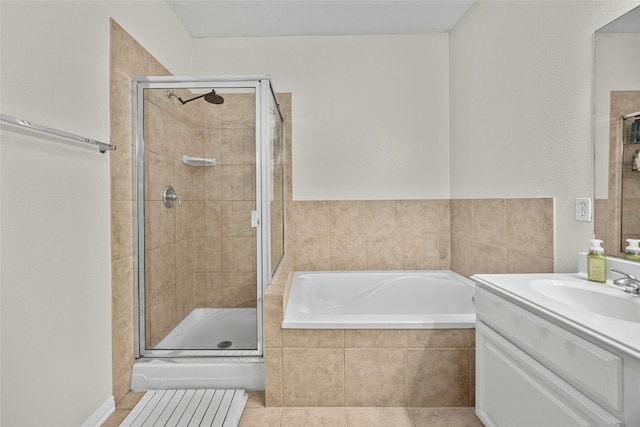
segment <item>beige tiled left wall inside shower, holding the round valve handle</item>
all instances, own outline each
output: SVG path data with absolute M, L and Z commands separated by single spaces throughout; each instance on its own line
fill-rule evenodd
M 177 108 L 161 89 L 145 91 L 144 103 L 146 339 L 154 347 L 195 307 L 193 168 L 181 158 L 202 138 L 192 130 L 201 116 L 195 107 Z M 182 206 L 164 206 L 166 185 Z

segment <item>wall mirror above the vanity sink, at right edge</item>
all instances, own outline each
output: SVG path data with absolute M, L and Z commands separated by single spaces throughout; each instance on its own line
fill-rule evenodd
M 640 239 L 640 6 L 596 31 L 594 129 L 596 238 L 621 256 Z

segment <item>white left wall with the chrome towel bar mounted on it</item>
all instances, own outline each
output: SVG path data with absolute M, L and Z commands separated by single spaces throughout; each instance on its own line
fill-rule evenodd
M 0 2 L 3 114 L 109 142 L 109 18 L 189 73 L 164 1 Z M 0 424 L 71 426 L 112 394 L 109 154 L 3 127 Z

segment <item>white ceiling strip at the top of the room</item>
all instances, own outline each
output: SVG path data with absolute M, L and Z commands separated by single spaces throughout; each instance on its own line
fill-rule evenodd
M 192 37 L 450 31 L 474 0 L 167 0 Z

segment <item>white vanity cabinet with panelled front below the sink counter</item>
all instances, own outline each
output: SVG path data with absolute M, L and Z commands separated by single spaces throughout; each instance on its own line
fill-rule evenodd
M 476 414 L 485 426 L 640 426 L 638 359 L 477 284 Z

